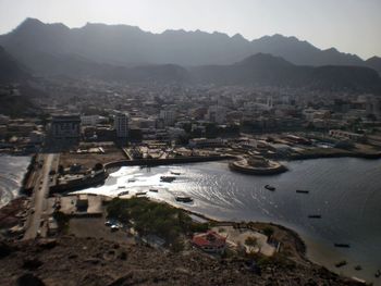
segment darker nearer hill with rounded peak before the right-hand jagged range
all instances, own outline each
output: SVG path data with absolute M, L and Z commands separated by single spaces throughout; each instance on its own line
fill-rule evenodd
M 271 85 L 323 90 L 381 90 L 379 74 L 365 66 L 302 66 L 282 58 L 258 53 L 232 65 L 189 70 L 195 82 L 217 85 Z

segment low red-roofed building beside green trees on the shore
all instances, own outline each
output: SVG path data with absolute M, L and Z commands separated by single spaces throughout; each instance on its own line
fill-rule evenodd
M 206 252 L 223 253 L 226 246 L 226 237 L 209 231 L 196 234 L 192 239 L 192 244 Z

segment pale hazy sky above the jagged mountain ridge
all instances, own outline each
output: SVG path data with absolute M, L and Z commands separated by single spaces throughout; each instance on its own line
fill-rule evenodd
M 239 33 L 250 40 L 279 33 L 365 59 L 381 55 L 381 0 L 0 0 L 0 34 L 25 17 L 69 27 L 91 22 L 153 33 Z

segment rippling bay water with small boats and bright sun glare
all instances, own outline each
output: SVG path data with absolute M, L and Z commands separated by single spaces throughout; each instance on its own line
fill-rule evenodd
M 348 277 L 377 283 L 374 273 L 381 263 L 378 254 L 381 237 L 378 161 L 318 159 L 286 162 L 286 165 L 290 172 L 271 178 L 230 172 L 225 162 L 121 167 L 110 174 L 103 186 L 78 192 L 114 197 L 120 191 L 118 186 L 124 185 L 131 196 L 147 191 L 145 196 L 149 198 L 217 220 L 281 224 L 302 236 L 307 257 L 314 262 Z M 171 172 L 181 175 L 172 183 L 160 182 L 161 176 L 171 176 Z M 356 184 L 348 177 L 356 177 Z M 135 182 L 128 183 L 131 178 Z M 265 188 L 270 183 L 275 191 Z M 148 191 L 150 188 L 158 192 Z M 299 195 L 297 189 L 309 190 L 309 194 Z M 176 201 L 180 190 L 193 202 Z M 310 214 L 321 217 L 308 219 Z M 351 248 L 335 247 L 340 241 L 349 244 Z M 335 264 L 342 260 L 347 264 L 337 269 Z M 356 265 L 362 269 L 355 270 Z

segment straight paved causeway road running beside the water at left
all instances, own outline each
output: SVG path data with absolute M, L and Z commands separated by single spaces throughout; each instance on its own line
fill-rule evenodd
M 47 153 L 40 154 L 38 158 L 39 160 L 44 160 L 44 165 L 40 170 L 40 174 L 36 181 L 36 186 L 33 191 L 32 208 L 34 208 L 34 212 L 30 212 L 24 239 L 33 239 L 39 232 L 42 222 L 41 217 L 48 207 L 47 198 L 49 196 L 49 172 L 53 162 L 58 160 L 58 154 Z

